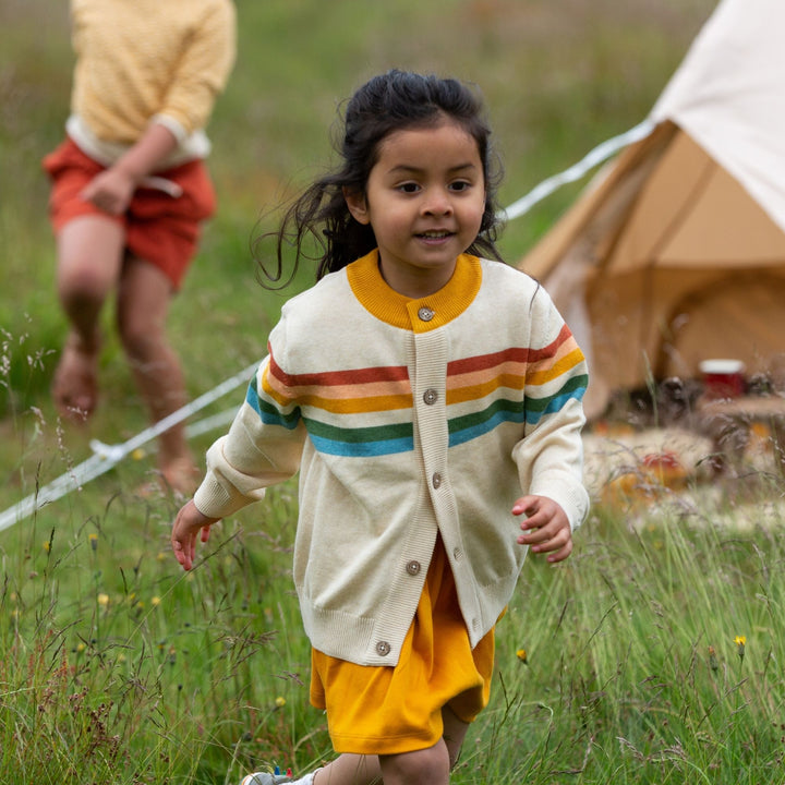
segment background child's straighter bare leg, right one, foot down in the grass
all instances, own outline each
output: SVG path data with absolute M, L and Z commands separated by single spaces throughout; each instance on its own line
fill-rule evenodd
M 157 267 L 136 258 L 126 261 L 118 290 L 118 327 L 153 422 L 188 402 L 180 361 L 166 335 L 170 300 L 171 283 Z M 197 470 L 184 423 L 159 436 L 158 467 L 172 490 L 193 493 Z

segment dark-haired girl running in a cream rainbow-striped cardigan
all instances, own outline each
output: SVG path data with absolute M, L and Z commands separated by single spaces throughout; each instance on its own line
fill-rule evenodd
M 286 214 L 269 276 L 312 232 L 321 279 L 285 305 L 173 524 L 191 569 L 213 523 L 300 471 L 311 702 L 340 753 L 303 785 L 447 783 L 527 551 L 567 558 L 588 511 L 583 355 L 545 291 L 498 261 L 481 112 L 435 76 L 355 93 L 342 168 Z

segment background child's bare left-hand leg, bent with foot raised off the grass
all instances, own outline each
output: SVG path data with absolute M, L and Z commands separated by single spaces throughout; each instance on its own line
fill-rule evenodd
M 117 286 L 122 227 L 102 216 L 83 216 L 58 232 L 58 295 L 71 329 L 55 372 L 52 399 L 62 416 L 84 422 L 98 400 L 98 319 Z

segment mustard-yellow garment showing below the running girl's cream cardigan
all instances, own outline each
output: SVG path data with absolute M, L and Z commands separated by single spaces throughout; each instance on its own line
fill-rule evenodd
M 494 630 L 474 650 L 438 539 L 395 667 L 363 666 L 312 651 L 311 702 L 327 710 L 336 752 L 398 754 L 433 747 L 449 706 L 470 723 L 487 705 Z

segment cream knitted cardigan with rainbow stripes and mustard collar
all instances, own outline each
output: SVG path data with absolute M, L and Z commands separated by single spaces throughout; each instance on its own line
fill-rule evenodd
M 472 645 L 515 590 L 524 493 L 584 518 L 583 355 L 523 273 L 459 257 L 409 300 L 376 252 L 289 301 L 197 508 L 226 517 L 300 471 L 294 582 L 312 644 L 395 665 L 437 531 Z

